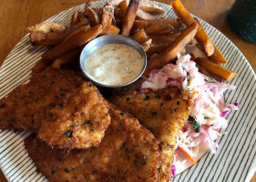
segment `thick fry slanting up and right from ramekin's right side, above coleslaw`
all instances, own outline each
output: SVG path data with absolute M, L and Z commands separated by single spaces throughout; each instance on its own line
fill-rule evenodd
M 170 61 L 172 61 L 178 53 L 180 53 L 189 41 L 196 35 L 198 29 L 198 24 L 193 23 L 189 27 L 181 32 L 173 44 L 169 45 L 164 52 L 158 56 L 154 56 L 148 60 L 148 66 L 143 74 L 143 76 L 148 76 L 152 69 L 159 69 Z

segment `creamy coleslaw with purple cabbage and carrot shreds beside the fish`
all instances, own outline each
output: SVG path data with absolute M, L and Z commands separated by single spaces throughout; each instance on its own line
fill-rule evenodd
M 194 164 L 208 150 L 216 153 L 214 142 L 220 132 L 228 126 L 225 118 L 230 111 L 238 110 L 239 104 L 225 104 L 223 93 L 235 86 L 203 75 L 189 55 L 178 56 L 176 64 L 168 64 L 159 70 L 152 70 L 142 88 L 158 90 L 167 86 L 187 89 L 194 96 L 189 117 L 179 131 L 173 176 Z

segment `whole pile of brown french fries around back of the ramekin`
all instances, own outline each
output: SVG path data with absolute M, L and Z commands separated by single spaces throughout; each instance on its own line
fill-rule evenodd
M 87 2 L 83 12 L 74 12 L 68 27 L 56 23 L 42 23 L 27 28 L 32 45 L 47 45 L 42 59 L 33 67 L 33 73 L 43 71 L 46 66 L 56 69 L 77 60 L 81 49 L 90 40 L 100 35 L 125 35 L 134 39 L 147 53 L 148 66 L 144 76 L 184 53 L 186 45 L 195 40 L 208 58 L 193 57 L 197 65 L 210 75 L 229 81 L 236 73 L 220 66 L 227 60 L 211 42 L 200 22 L 175 0 L 171 7 L 177 18 L 157 19 L 155 14 L 165 10 L 148 1 L 112 0 L 102 8 L 93 8 Z M 177 30 L 180 23 L 186 25 Z

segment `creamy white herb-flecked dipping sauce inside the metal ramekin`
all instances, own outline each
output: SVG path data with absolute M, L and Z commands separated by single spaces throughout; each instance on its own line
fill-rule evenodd
M 127 84 L 142 71 L 144 58 L 128 45 L 103 45 L 87 57 L 87 74 L 95 81 L 109 86 Z

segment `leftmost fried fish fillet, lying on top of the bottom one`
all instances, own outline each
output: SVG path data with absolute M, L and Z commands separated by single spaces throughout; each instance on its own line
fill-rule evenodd
M 110 124 L 96 86 L 71 70 L 47 68 L 0 100 L 0 128 L 35 131 L 51 146 L 97 146 Z

